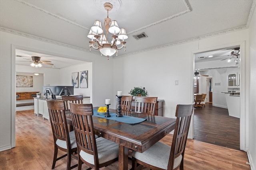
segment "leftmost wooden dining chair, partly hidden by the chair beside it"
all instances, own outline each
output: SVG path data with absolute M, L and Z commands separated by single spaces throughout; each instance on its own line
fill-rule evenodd
M 77 159 L 77 157 L 73 155 L 73 153 L 77 151 L 76 138 L 74 131 L 71 131 L 70 133 L 68 132 L 64 102 L 62 100 L 47 100 L 47 106 L 54 139 L 54 156 L 52 169 L 54 169 L 56 161 L 64 158 L 65 156 L 68 156 L 67 170 L 73 169 L 78 166 L 78 164 L 76 164 L 70 167 L 71 156 Z M 66 152 L 67 154 L 57 158 L 58 149 Z

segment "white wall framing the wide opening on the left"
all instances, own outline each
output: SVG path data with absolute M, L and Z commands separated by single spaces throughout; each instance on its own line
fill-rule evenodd
M 92 103 L 94 106 L 101 106 L 104 105 L 106 98 L 114 98 L 112 59 L 108 61 L 100 54 L 86 53 L 3 31 L 0 31 L 0 37 L 0 151 L 15 147 L 15 48 L 92 62 Z M 17 71 L 23 72 L 19 68 Z M 56 82 L 60 80 L 47 70 L 44 85 L 58 85 L 57 83 L 51 84 L 54 79 Z

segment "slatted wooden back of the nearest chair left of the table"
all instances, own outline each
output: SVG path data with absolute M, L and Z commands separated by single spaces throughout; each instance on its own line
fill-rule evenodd
M 76 134 L 78 153 L 80 150 L 94 155 L 94 160 L 98 161 L 96 138 L 92 121 L 92 104 L 70 103 L 73 127 Z

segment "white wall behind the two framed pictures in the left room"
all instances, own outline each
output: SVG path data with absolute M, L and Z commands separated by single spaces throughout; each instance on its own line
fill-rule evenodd
M 72 72 L 79 72 L 80 81 L 80 71 L 88 70 L 88 88 L 74 88 L 74 94 L 82 94 L 84 96 L 91 96 L 92 94 L 92 63 L 80 63 L 72 66 L 68 66 L 60 69 L 60 82 L 59 86 L 72 86 L 71 74 Z

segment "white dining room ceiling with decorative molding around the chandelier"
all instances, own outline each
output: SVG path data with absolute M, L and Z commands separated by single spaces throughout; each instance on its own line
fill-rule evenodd
M 248 28 L 255 0 L 0 0 L 0 26 L 42 41 L 89 51 L 95 20 L 109 18 L 126 29 L 126 56 Z M 132 35 L 146 33 L 136 40 Z M 95 53 L 98 51 L 92 49 Z M 41 59 L 42 60 L 42 59 Z M 26 62 L 24 62 L 26 63 Z

